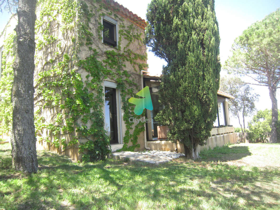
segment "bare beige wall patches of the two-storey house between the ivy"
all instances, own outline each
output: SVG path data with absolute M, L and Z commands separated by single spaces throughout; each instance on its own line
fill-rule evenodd
M 99 2 L 99 3 L 97 3 Z M 136 31 L 138 34 L 141 34 L 141 38 L 144 39 L 144 27 L 139 26 L 139 24 L 136 24 L 134 21 L 130 20 L 130 16 L 132 15 L 127 12 L 128 15 L 122 15 L 121 10 L 118 8 L 114 8 L 113 1 L 90 1 L 86 0 L 84 1 L 85 4 L 87 4 L 87 7 L 89 11 L 94 14 L 94 17 L 91 17 L 91 20 L 89 21 L 89 32 L 93 34 L 93 40 L 92 44 L 89 45 L 87 40 L 84 40 L 83 45 L 80 45 L 79 50 L 77 50 L 78 54 L 76 55 L 73 53 L 78 48 L 78 27 L 79 24 L 84 21 L 81 16 L 78 14 L 77 8 L 74 8 L 74 11 L 71 11 L 72 13 L 75 13 L 76 15 L 73 16 L 71 20 L 66 20 L 69 22 L 65 22 L 65 17 L 63 16 L 62 8 L 64 5 L 59 3 L 59 1 L 51 1 L 51 4 L 48 5 L 45 3 L 45 1 L 40 1 L 37 8 L 39 8 L 36 11 L 36 27 L 35 27 L 35 42 L 36 42 L 36 52 L 35 52 L 35 71 L 34 71 L 34 87 L 35 87 L 35 94 L 34 94 L 34 112 L 36 112 L 37 119 L 43 118 L 43 124 L 49 125 L 49 124 L 57 124 L 56 119 L 58 117 L 58 114 L 61 114 L 61 110 L 55 106 L 46 106 L 46 101 L 44 100 L 44 97 L 42 94 L 38 94 L 39 86 L 41 85 L 41 82 L 38 80 L 40 79 L 40 73 L 50 71 L 53 69 L 53 67 L 56 67 L 60 62 L 64 60 L 64 55 L 67 54 L 70 56 L 69 65 L 71 66 L 71 70 L 78 72 L 81 75 L 81 80 L 85 81 L 88 75 L 88 72 L 85 71 L 80 66 L 76 65 L 76 60 L 74 59 L 75 56 L 77 56 L 79 59 L 86 59 L 91 54 L 93 54 L 93 51 L 90 51 L 89 48 L 96 49 L 98 52 L 99 57 L 97 60 L 102 61 L 106 58 L 105 52 L 106 51 L 115 51 L 118 53 L 128 53 L 127 49 L 130 49 L 130 53 L 132 56 L 135 54 L 141 56 L 146 56 L 146 46 L 143 44 L 142 40 L 136 39 L 133 40 L 131 43 L 125 39 L 120 38 L 118 39 L 118 50 L 116 48 L 113 48 L 111 46 L 105 45 L 102 43 L 101 32 L 100 29 L 100 18 L 103 16 L 111 17 L 115 19 L 120 25 L 122 25 L 122 29 L 126 29 L 129 27 L 130 31 Z M 70 2 L 71 3 L 71 2 Z M 104 7 L 99 7 L 98 4 L 102 4 Z M 109 10 L 106 9 L 108 6 Z M 64 7 L 67 8 L 67 5 Z M 53 8 L 53 9 L 50 9 Z M 123 9 L 122 9 L 123 10 Z M 43 14 L 43 16 L 42 16 Z M 98 18 L 96 18 L 98 17 Z M 135 17 L 135 16 L 133 16 Z M 12 17 L 10 21 L 8 22 L 8 25 L 6 26 L 5 31 L 0 34 L 0 47 L 2 46 L 3 40 L 5 40 L 6 36 L 13 32 L 13 29 L 15 28 L 15 25 L 17 24 L 17 18 Z M 119 26 L 120 26 L 119 25 Z M 119 27 L 118 29 L 121 29 Z M 125 33 L 129 33 L 129 31 L 125 31 Z M 139 69 L 139 67 L 136 65 L 136 63 L 143 64 L 143 68 Z M 139 90 L 141 90 L 141 70 L 147 70 L 147 60 L 141 60 L 136 59 L 133 62 L 130 62 L 129 60 L 125 61 L 123 63 L 123 69 L 127 71 L 130 76 L 129 79 L 131 81 L 134 81 L 137 83 L 137 87 L 135 88 L 135 93 L 137 93 Z M 54 69 L 55 71 L 55 69 Z M 114 69 L 113 69 L 114 71 Z M 117 79 L 115 76 L 108 76 L 106 78 L 107 81 L 117 83 Z M 52 82 L 53 78 L 48 78 L 48 81 Z M 102 81 L 101 81 L 101 84 Z M 104 87 L 104 85 L 103 85 Z M 73 90 L 72 90 L 73 91 Z M 61 94 L 61 90 L 57 89 L 55 90 L 55 94 Z M 59 102 L 59 104 L 63 104 L 63 100 Z M 121 106 L 123 106 L 123 102 L 121 102 Z M 121 127 L 122 130 L 120 131 L 122 133 L 122 137 L 125 136 L 126 131 L 126 125 L 125 121 L 123 120 L 123 109 L 120 109 L 121 113 Z M 104 111 L 104 110 L 103 110 Z M 64 113 L 62 113 L 64 114 Z M 65 125 L 65 119 L 62 119 L 62 124 Z M 136 125 L 136 124 L 135 124 Z M 134 128 L 133 125 L 132 127 Z M 88 127 L 90 127 L 90 124 L 87 124 Z M 133 132 L 133 129 L 131 130 Z M 7 137 L 6 135 L 0 133 L 0 137 Z M 48 149 L 63 155 L 67 155 L 71 157 L 74 160 L 80 160 L 81 155 L 78 154 L 78 146 L 79 143 L 87 141 L 86 139 L 79 139 L 79 143 L 75 144 L 71 148 L 66 148 L 66 150 L 62 149 L 62 146 L 59 148 L 52 145 L 55 138 L 61 139 L 62 137 L 66 139 L 66 143 L 72 140 L 72 136 L 76 136 L 75 131 L 71 134 L 56 134 L 50 135 L 50 130 L 46 129 L 44 126 L 39 127 L 36 131 L 36 137 L 37 137 L 37 148 L 38 149 Z M 48 142 L 46 141 L 48 139 Z M 94 139 L 93 139 L 94 140 Z M 122 141 L 122 139 L 121 139 Z M 122 142 L 121 142 L 122 143 Z M 141 132 L 138 136 L 138 143 L 140 145 L 139 148 L 136 148 L 136 151 L 144 150 L 144 132 Z M 122 148 L 123 144 L 119 144 L 117 148 Z M 129 142 L 128 146 L 131 146 L 132 143 Z

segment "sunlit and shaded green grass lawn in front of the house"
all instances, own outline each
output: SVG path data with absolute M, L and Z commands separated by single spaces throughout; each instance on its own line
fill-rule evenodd
M 0 210 L 280 209 L 280 144 L 224 146 L 162 165 L 80 164 L 38 151 L 31 175 L 12 169 L 10 153 L 0 145 Z

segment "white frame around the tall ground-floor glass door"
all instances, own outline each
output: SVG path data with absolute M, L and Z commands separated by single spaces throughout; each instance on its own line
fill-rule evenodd
M 110 82 L 110 81 L 104 81 L 103 84 L 103 93 L 104 93 L 104 109 L 103 109 L 103 115 L 105 119 L 105 87 L 115 88 L 116 89 L 116 104 L 117 104 L 117 126 L 118 126 L 118 144 L 111 144 L 112 151 L 115 151 L 116 149 L 121 149 L 123 145 L 123 135 L 122 135 L 122 104 L 121 104 L 121 96 L 120 96 L 120 90 L 117 89 L 117 83 Z M 106 124 L 104 122 L 104 130 L 106 130 Z

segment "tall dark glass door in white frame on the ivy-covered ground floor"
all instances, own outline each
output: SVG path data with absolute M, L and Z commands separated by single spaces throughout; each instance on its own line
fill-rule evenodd
M 116 89 L 111 87 L 105 87 L 105 127 L 110 144 L 118 144 Z

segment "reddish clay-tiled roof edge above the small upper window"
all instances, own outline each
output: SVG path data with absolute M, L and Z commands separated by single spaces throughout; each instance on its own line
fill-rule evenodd
M 117 13 L 122 17 L 127 18 L 128 20 L 130 20 L 130 22 L 138 25 L 142 29 L 145 29 L 146 21 L 124 7 L 122 4 L 119 4 L 118 2 L 113 0 L 103 0 L 103 2 L 109 4 L 113 8 L 116 8 L 118 10 Z

